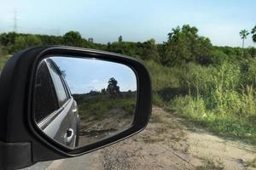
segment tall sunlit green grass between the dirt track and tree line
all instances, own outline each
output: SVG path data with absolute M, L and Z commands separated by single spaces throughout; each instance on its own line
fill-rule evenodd
M 225 137 L 256 144 L 256 59 L 241 65 L 165 67 L 145 63 L 154 105 Z

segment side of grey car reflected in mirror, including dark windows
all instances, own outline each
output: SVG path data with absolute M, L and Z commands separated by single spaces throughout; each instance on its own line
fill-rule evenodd
M 79 110 L 63 75 L 53 59 L 39 64 L 35 120 L 49 138 L 74 148 L 79 144 Z

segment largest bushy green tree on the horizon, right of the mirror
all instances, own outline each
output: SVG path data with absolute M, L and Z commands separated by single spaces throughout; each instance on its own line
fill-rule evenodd
M 195 26 L 177 26 L 168 34 L 168 41 L 164 42 L 164 53 L 160 62 L 163 65 L 180 65 L 182 63 L 198 62 L 207 65 L 211 61 L 212 43 L 206 37 L 198 35 Z

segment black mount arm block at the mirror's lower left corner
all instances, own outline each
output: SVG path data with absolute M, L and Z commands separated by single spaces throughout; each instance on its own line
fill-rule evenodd
M 0 141 L 0 169 L 16 169 L 31 166 L 31 143 L 4 143 Z

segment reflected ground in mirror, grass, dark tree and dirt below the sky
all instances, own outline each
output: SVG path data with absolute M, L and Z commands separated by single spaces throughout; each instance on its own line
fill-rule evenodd
M 79 107 L 79 143 L 89 144 L 131 125 L 136 111 L 136 91 L 120 91 L 114 77 L 101 91 L 73 94 Z

